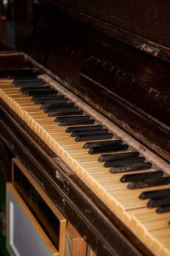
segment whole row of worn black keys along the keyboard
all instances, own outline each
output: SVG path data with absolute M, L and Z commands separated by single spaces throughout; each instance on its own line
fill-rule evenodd
M 31 83 L 30 87 L 28 87 L 28 83 Z M 89 116 L 76 116 L 82 115 L 83 111 L 74 107 L 74 103 L 67 103 L 68 99 L 64 99 L 64 96 L 57 96 L 57 90 L 50 86 L 41 87 L 45 84 L 41 79 L 34 78 L 34 81 L 33 79 L 20 79 L 15 80 L 14 84 L 22 86 L 20 91 L 26 96 L 33 96 L 31 100 L 35 101 L 35 104 L 42 104 L 41 109 L 44 109 L 48 116 L 59 116 L 54 122 L 60 122 L 60 126 L 94 124 L 94 120 L 89 120 Z M 108 134 L 107 129 L 102 129 L 102 125 L 69 127 L 66 132 L 71 133 L 71 137 L 76 137 L 76 141 L 107 140 L 113 136 L 113 134 Z M 110 140 L 85 143 L 83 148 L 90 148 L 89 154 L 102 154 L 126 151 L 128 145 L 122 145 L 121 140 Z M 144 163 L 144 157 L 139 157 L 138 152 L 105 154 L 101 155 L 98 160 L 105 162 L 105 167 L 111 167 L 111 173 L 140 171 L 151 167 L 151 163 Z M 157 171 L 124 175 L 120 181 L 130 182 L 127 186 L 129 189 L 169 184 L 170 177 L 162 178 L 162 174 L 163 172 Z M 144 192 L 139 198 L 151 198 L 147 205 L 149 208 L 158 207 L 156 210 L 158 213 L 170 211 L 170 189 Z

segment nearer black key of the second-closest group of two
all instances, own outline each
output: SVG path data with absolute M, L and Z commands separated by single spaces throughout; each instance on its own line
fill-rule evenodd
M 118 145 L 118 146 L 112 146 L 112 147 L 94 147 L 90 148 L 88 153 L 89 154 L 104 154 L 104 153 L 113 153 L 113 152 L 121 152 L 121 151 L 127 151 L 128 145 Z

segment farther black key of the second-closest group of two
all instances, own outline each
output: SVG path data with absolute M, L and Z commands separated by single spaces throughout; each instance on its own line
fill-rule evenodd
M 121 145 L 122 140 L 108 140 L 108 141 L 94 141 L 94 142 L 87 142 L 83 146 L 83 148 L 94 148 L 94 147 L 111 147 L 114 145 Z

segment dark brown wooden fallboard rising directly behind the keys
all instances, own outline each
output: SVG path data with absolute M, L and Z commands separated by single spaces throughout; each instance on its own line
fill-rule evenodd
M 27 53 L 59 82 L 170 160 L 169 63 L 48 8 Z M 91 64 L 91 58 L 99 63 Z

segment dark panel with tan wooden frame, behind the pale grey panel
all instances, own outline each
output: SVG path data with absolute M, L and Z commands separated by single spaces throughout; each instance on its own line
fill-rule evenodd
M 65 255 L 66 219 L 17 158 L 12 158 L 12 183 L 60 256 Z

